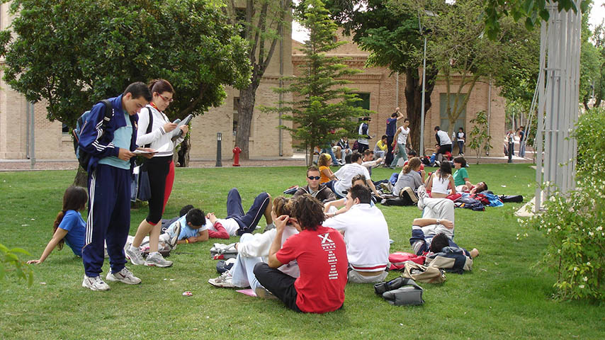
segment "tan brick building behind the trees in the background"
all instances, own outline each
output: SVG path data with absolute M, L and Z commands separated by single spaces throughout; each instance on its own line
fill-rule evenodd
M 0 5 L 0 26 L 6 28 L 10 22 L 7 13 L 8 4 Z M 284 32 L 290 36 L 290 28 Z M 346 39 L 339 37 L 340 39 Z M 276 113 L 262 113 L 260 106 L 275 106 L 278 94 L 272 88 L 279 86 L 280 69 L 283 75 L 296 74 L 296 66 L 303 62 L 302 52 L 295 47 L 300 45 L 295 40 L 283 40 L 283 54 L 276 48 L 271 64 L 266 70 L 258 91 L 256 91 L 256 108 L 251 123 L 249 155 L 251 158 L 290 157 L 293 154 L 293 142 L 290 134 L 279 130 L 281 123 Z M 358 50 L 356 45 L 349 43 L 334 51 L 335 55 L 348 57 L 346 64 L 363 69 L 368 57 L 367 52 Z M 0 60 L 1 63 L 1 60 Z M 282 67 L 280 67 L 282 64 Z M 395 107 L 400 106 L 405 113 L 404 76 L 394 74 L 385 68 L 363 69 L 363 73 L 351 77 L 354 84 L 350 87 L 358 89 L 364 105 L 376 112 L 372 117 L 370 130 L 373 135 L 383 135 L 385 119 L 390 116 Z M 0 71 L 0 76 L 4 74 Z M 485 110 L 490 113 L 490 134 L 494 141 L 504 136 L 504 98 L 498 96 L 498 90 L 491 88 L 485 82 L 475 86 L 466 107 L 466 113 L 460 118 L 460 124 L 465 131 L 470 128 L 469 120 L 473 113 Z M 234 127 L 237 125 L 237 105 L 239 91 L 227 88 L 225 103 L 218 108 L 212 108 L 200 115 L 191 123 L 191 159 L 213 159 L 216 157 L 217 132 L 222 133 L 222 157 L 231 158 L 234 147 Z M 442 119 L 446 86 L 444 81 L 438 81 L 431 101 L 433 106 L 425 120 L 425 147 L 434 145 L 435 125 L 444 126 Z M 491 96 L 490 96 L 491 95 Z M 290 94 L 284 95 L 284 100 L 290 100 Z M 32 114 L 33 112 L 33 114 Z M 441 114 L 440 114 L 441 113 Z M 32 124 L 33 120 L 33 124 Z M 447 119 L 445 119 L 447 121 Z M 289 122 L 283 122 L 288 124 Z M 33 130 L 32 130 L 33 126 Z M 460 125 L 456 125 L 458 128 Z M 50 122 L 46 118 L 45 103 L 27 103 L 25 98 L 13 91 L 4 81 L 0 81 L 0 159 L 26 159 L 34 152 L 38 159 L 74 159 L 72 139 L 60 122 Z M 375 142 L 375 141 L 374 141 Z M 492 145 L 495 145 L 492 142 Z M 470 150 L 466 154 L 471 154 Z M 492 155 L 501 156 L 502 149 L 494 147 Z

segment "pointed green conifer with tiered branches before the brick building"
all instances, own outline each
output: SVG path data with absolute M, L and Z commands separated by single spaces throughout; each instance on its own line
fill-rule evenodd
M 300 65 L 302 76 L 285 79 L 291 83 L 276 91 L 290 92 L 300 99 L 295 97 L 293 101 L 283 101 L 282 108 L 265 110 L 286 113 L 283 119 L 293 121 L 293 128 L 281 128 L 289 130 L 308 150 L 327 145 L 335 137 L 351 135 L 357 125 L 351 118 L 369 115 L 371 111 L 356 107 L 354 104 L 360 99 L 344 86 L 351 83 L 344 78 L 361 71 L 341 64 L 339 57 L 326 55 L 346 42 L 334 42 L 337 25 L 329 19 L 322 1 L 302 1 L 298 11 L 301 24 L 310 32 L 309 40 L 303 45 L 306 61 Z M 312 152 L 307 164 L 311 160 Z

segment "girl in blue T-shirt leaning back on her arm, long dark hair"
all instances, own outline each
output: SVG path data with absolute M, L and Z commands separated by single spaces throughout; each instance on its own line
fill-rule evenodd
M 86 189 L 81 186 L 70 186 L 63 194 L 63 209 L 57 214 L 52 224 L 52 239 L 46 245 L 40 259 L 30 260 L 28 264 L 43 263 L 52 252 L 52 249 L 67 244 L 74 254 L 82 257 L 84 237 L 86 237 L 86 222 L 80 214 L 80 210 L 86 208 L 88 202 Z

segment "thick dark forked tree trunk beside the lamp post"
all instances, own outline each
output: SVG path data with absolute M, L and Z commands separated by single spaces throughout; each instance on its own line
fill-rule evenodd
M 426 86 L 424 94 L 424 115 L 432 106 L 431 93 L 435 87 L 437 72 L 426 72 Z M 407 118 L 409 118 L 409 133 L 412 146 L 417 152 L 420 150 L 420 129 L 422 122 L 422 80 L 418 77 L 418 69 L 409 68 L 405 71 L 405 103 Z M 426 123 L 426 122 L 425 122 Z M 424 141 L 426 145 L 426 140 Z M 422 155 L 419 155 L 422 156 Z

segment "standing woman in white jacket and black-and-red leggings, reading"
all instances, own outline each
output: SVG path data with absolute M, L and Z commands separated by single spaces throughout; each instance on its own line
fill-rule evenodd
M 149 174 L 149 214 L 142 220 L 132 244 L 126 249 L 126 255 L 132 264 L 145 264 L 145 266 L 172 266 L 157 251 L 159 234 L 161 233 L 162 214 L 170 197 L 174 183 L 174 162 L 172 155 L 174 148 L 183 141 L 188 132 L 187 125 L 176 129 L 176 123 L 171 123 L 164 111 L 173 101 L 174 89 L 164 79 L 149 82 L 152 92 L 152 101 L 142 108 L 139 113 L 139 127 L 137 130 L 137 145 L 146 145 L 156 151 L 154 156 L 146 159 L 143 166 Z M 145 236 L 149 234 L 149 256 L 143 259 L 139 246 Z

